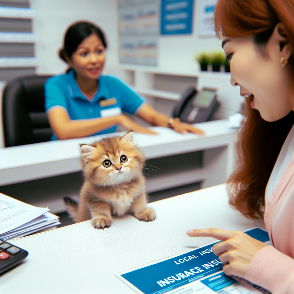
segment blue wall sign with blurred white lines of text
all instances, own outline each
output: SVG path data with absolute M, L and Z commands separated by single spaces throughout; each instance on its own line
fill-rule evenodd
M 161 34 L 191 34 L 193 0 L 161 0 Z

